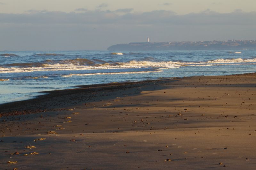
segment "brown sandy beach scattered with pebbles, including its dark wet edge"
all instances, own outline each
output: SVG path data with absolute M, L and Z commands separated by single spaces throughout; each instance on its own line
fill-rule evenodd
M 255 169 L 256 73 L 85 85 L 0 105 L 0 169 Z

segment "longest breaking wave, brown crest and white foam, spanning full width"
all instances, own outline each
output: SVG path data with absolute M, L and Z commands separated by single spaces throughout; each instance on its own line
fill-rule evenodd
M 251 59 L 217 59 L 207 62 L 186 62 L 186 61 L 130 61 L 111 62 L 92 61 L 84 58 L 67 60 L 45 60 L 37 63 L 12 63 L 0 65 L 0 73 L 33 72 L 50 70 L 100 70 L 100 69 L 130 69 L 130 68 L 155 68 L 171 69 L 186 66 L 214 66 L 214 65 L 244 65 L 256 64 L 256 58 Z

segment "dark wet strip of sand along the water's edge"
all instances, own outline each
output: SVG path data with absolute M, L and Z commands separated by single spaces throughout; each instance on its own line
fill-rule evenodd
M 233 75 L 227 75 L 227 76 L 243 76 L 243 75 L 254 75 L 256 73 L 243 73 L 243 74 L 233 74 Z M 184 78 L 193 78 L 193 77 L 218 77 L 218 76 L 191 76 L 191 77 L 173 77 L 173 78 L 159 78 L 159 79 L 153 79 L 153 80 L 142 80 L 142 81 L 136 81 L 136 82 L 112 82 L 112 83 L 106 83 L 106 84 L 92 84 L 92 85 L 75 85 L 73 87 L 75 88 L 68 88 L 68 89 L 60 89 L 60 90 L 51 90 L 51 91 L 41 91 L 41 92 L 35 92 L 38 93 L 35 97 L 31 99 L 25 99 L 25 100 L 18 100 L 18 101 L 12 101 L 8 103 L 2 103 L 0 104 L 0 115 L 20 115 L 20 114 L 30 114 L 30 113 L 38 113 L 43 111 L 50 111 L 50 110 L 58 110 L 60 108 L 58 107 L 51 107 L 49 109 L 43 109 L 46 106 L 37 106 L 36 109 L 30 109 L 31 108 L 31 102 L 38 105 L 38 102 L 45 102 L 48 99 L 59 97 L 59 96 L 67 96 L 72 94 L 77 94 L 80 92 L 84 92 L 85 90 L 88 90 L 84 93 L 90 94 L 91 92 L 94 93 L 98 90 L 100 91 L 107 91 L 107 90 L 114 90 L 117 88 L 132 88 L 132 85 L 134 86 L 147 86 L 147 84 L 156 82 L 156 83 L 165 83 L 173 80 L 180 80 Z M 221 77 L 221 76 L 219 76 Z M 156 88 L 154 88 L 156 89 Z M 153 90 L 153 88 L 151 88 Z M 40 94 L 42 93 L 42 94 Z M 44 94 L 43 94 L 44 93 Z M 89 95 L 92 97 L 92 95 Z M 42 101 L 43 100 L 43 101 Z M 90 100 L 87 100 L 87 102 Z M 86 101 L 84 101 L 86 102 Z M 77 102 L 76 102 L 77 103 Z M 73 103 L 74 104 L 74 103 Z M 25 107 L 22 107 L 24 105 L 27 105 Z M 32 104 L 34 105 L 34 104 Z M 15 106 L 15 107 L 13 107 Z M 61 107 L 70 107 L 70 105 L 60 105 Z M 12 107 L 12 108 L 10 108 Z M 21 109 L 21 111 L 17 111 L 18 109 Z

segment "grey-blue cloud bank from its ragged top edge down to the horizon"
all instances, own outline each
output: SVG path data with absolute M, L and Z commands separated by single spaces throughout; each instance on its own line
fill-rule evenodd
M 95 11 L 0 13 L 0 50 L 104 50 L 117 43 L 146 41 L 148 36 L 156 42 L 256 39 L 256 12 L 177 15 L 132 8 L 102 11 L 102 6 L 107 4 Z

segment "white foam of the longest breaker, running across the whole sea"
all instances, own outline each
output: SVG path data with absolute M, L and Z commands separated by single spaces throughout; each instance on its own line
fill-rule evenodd
M 234 63 L 256 64 L 256 58 L 252 59 L 216 59 L 208 62 L 152 62 L 152 61 L 130 61 L 120 63 L 104 63 L 88 65 L 75 65 L 73 63 L 56 63 L 44 64 L 43 67 L 0 67 L 0 73 L 15 73 L 15 72 L 33 72 L 33 71 L 53 71 L 53 70 L 101 70 L 101 69 L 131 69 L 131 68 L 157 68 L 157 69 L 172 69 L 186 66 L 211 66 L 211 65 L 233 65 Z

